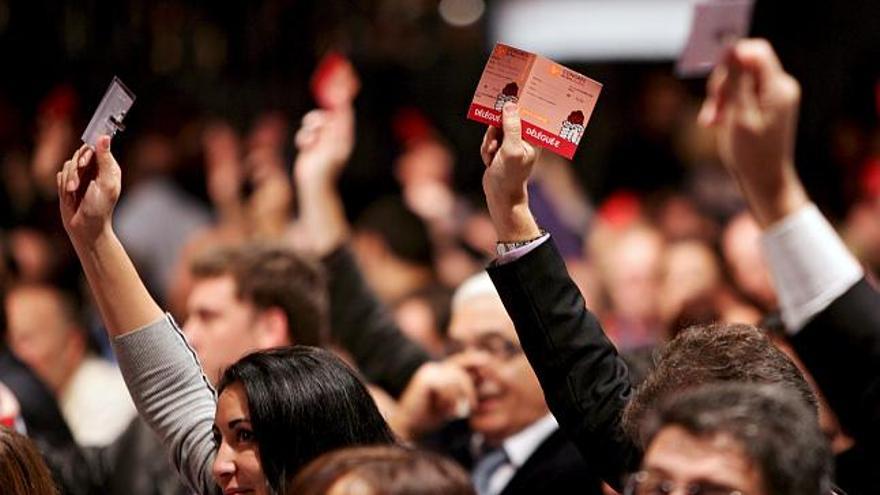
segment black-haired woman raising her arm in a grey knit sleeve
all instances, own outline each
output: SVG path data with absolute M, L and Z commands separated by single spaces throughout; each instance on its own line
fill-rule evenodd
M 97 169 L 95 178 L 82 181 L 89 167 Z M 247 355 L 226 371 L 216 397 L 174 319 L 150 296 L 113 231 L 122 186 L 109 137 L 102 136 L 95 150 L 80 148 L 57 180 L 65 230 L 129 392 L 190 490 L 283 493 L 303 464 L 327 450 L 394 442 L 354 371 L 320 349 Z

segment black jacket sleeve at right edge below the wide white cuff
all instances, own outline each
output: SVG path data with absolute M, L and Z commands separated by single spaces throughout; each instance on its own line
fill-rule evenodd
M 791 338 L 841 426 L 880 442 L 880 294 L 864 278 Z

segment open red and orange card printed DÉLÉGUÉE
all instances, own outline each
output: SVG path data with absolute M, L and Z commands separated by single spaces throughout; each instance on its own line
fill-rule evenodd
M 524 140 L 571 159 L 602 84 L 556 62 L 498 43 L 468 109 L 468 118 L 501 127 L 501 109 L 516 103 Z

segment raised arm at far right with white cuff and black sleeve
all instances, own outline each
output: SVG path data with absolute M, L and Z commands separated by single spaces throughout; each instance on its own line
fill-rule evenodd
M 800 87 L 764 40 L 744 40 L 713 73 L 701 122 L 763 226 L 791 340 L 859 441 L 880 431 L 880 294 L 810 203 L 794 167 Z

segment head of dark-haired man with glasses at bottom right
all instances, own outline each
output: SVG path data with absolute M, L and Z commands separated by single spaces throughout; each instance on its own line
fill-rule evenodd
M 831 493 L 831 453 L 816 414 L 785 388 L 698 387 L 665 401 L 643 430 L 645 458 L 626 494 Z

